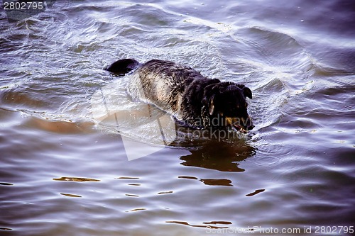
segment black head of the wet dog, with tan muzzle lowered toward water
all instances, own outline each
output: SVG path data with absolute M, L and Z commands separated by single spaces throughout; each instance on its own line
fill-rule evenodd
M 219 82 L 204 89 L 203 105 L 208 108 L 209 125 L 230 127 L 247 133 L 254 128 L 248 114 L 246 98 L 251 99 L 251 90 L 243 84 Z

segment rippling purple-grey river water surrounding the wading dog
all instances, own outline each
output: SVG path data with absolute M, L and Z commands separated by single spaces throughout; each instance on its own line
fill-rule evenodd
M 351 234 L 352 1 L 53 2 L 0 11 L 0 235 Z M 246 84 L 256 127 L 175 130 L 126 57 Z

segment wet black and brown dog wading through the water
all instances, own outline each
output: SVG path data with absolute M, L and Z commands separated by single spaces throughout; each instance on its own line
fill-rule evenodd
M 140 64 L 123 59 L 104 69 L 118 75 L 133 71 L 128 91 L 143 91 L 138 93 L 139 100 L 170 113 L 182 125 L 241 133 L 254 128 L 246 102 L 252 93 L 244 84 L 208 79 L 195 69 L 163 60 Z

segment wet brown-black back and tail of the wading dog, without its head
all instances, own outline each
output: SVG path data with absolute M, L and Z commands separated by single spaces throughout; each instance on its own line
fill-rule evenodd
M 106 68 L 115 74 L 125 74 L 133 69 L 128 92 L 135 101 L 146 101 L 172 113 L 181 119 L 181 103 L 185 89 L 193 81 L 207 81 L 200 72 L 174 62 L 150 60 L 138 64 L 136 60 L 124 59 Z M 190 111 L 192 113 L 192 111 Z

